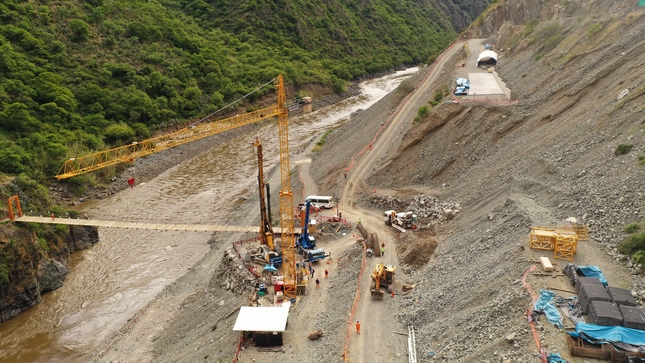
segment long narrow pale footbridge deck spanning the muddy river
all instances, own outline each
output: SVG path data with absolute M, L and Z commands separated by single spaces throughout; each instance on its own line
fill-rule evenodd
M 67 224 L 73 226 L 96 226 L 109 228 L 133 228 L 133 229 L 154 229 L 160 231 L 193 231 L 193 232 L 248 232 L 260 233 L 260 226 L 218 226 L 208 224 L 169 224 L 169 223 L 141 223 L 141 222 L 118 222 L 101 221 L 93 219 L 71 219 L 51 217 L 22 216 L 15 219 L 16 222 L 33 222 L 46 224 Z M 273 233 L 279 234 L 282 229 L 273 227 Z M 300 228 L 295 233 L 300 233 Z

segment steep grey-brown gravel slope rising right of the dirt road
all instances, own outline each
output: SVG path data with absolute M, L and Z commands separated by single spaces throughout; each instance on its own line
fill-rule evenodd
M 641 270 L 628 270 L 615 250 L 623 227 L 645 213 L 643 20 L 635 1 L 500 1 L 463 39 L 495 44 L 496 70 L 516 102 L 442 103 L 375 165 L 366 193 L 414 189 L 463 208 L 440 229 L 431 261 L 408 266 L 419 286 L 399 317 L 419 329 L 421 361 L 536 359 L 525 317 L 531 300 L 519 280 L 539 255 L 527 251 L 531 226 L 575 216 L 591 229 L 575 262 L 601 266 L 610 284 L 644 297 Z M 378 125 L 356 124 L 382 112 L 358 115 L 332 142 L 373 135 Z M 620 144 L 632 151 L 615 155 Z M 314 165 L 324 166 L 318 180 L 333 192 L 350 163 L 325 156 Z M 549 329 L 540 333 L 547 350 L 564 352 L 564 337 Z

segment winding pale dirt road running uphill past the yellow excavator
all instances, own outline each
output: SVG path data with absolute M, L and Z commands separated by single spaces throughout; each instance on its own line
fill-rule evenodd
M 428 71 L 424 80 L 409 94 L 401 103 L 399 108 L 384 120 L 380 133 L 373 144 L 367 146 L 367 150 L 354 165 L 340 194 L 340 208 L 344 215 L 357 221 L 361 219 L 362 224 L 368 231 L 376 232 L 381 241 L 385 242 L 386 253 L 384 257 L 372 258 L 367 261 L 366 268 L 359 281 L 360 302 L 355 313 L 350 317 L 350 325 L 356 321 L 361 322 L 361 334 L 352 336 L 349 342 L 350 362 L 378 362 L 378 361 L 406 361 L 406 338 L 394 333 L 395 331 L 407 331 L 407 328 L 394 319 L 395 312 L 392 309 L 392 297 L 384 297 L 384 301 L 373 300 L 370 294 L 371 272 L 378 262 L 398 265 L 396 249 L 394 248 L 394 232 L 391 227 L 385 226 L 380 215 L 375 216 L 373 212 L 367 212 L 355 206 L 355 197 L 364 192 L 367 188 L 364 179 L 374 172 L 373 168 L 377 161 L 387 158 L 392 150 L 396 150 L 405 130 L 411 125 L 411 120 L 417 113 L 417 105 L 425 103 L 430 85 L 439 77 L 446 66 L 447 60 L 452 58 L 461 50 L 462 43 L 455 43 L 450 49 L 442 54 Z M 401 270 L 398 270 L 395 278 L 395 293 L 400 292 L 401 281 L 405 278 Z M 396 297 L 394 297 L 396 299 Z

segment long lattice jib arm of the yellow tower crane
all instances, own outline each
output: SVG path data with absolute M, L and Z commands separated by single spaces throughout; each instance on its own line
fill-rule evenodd
M 286 95 L 284 98 L 286 99 Z M 279 113 L 279 105 L 273 105 L 242 115 L 212 121 L 193 127 L 187 127 L 171 134 L 158 136 L 138 143 L 132 143 L 130 145 L 101 151 L 80 158 L 71 158 L 65 161 L 63 166 L 60 168 L 56 175 L 56 179 L 67 179 L 105 168 L 106 166 L 132 162 L 136 158 L 183 145 L 191 141 L 199 140 L 207 136 L 215 135 L 220 132 L 254 122 L 262 121 L 270 117 L 278 116 Z

